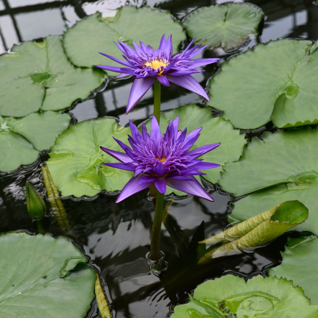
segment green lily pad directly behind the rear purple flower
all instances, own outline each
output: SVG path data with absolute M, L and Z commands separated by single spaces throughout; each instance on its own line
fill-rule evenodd
M 77 66 L 93 65 L 118 66 L 98 52 L 107 53 L 122 59 L 122 53 L 115 42 L 123 41 L 132 46 L 132 41 L 142 41 L 155 49 L 160 44 L 162 34 L 172 34 L 175 52 L 185 34 L 179 22 L 173 20 L 169 12 L 152 10 L 149 7 L 121 7 L 115 17 L 102 18 L 94 14 L 68 29 L 64 35 L 64 47 L 67 56 Z M 85 45 L 83 45 L 83 43 Z M 109 72 L 110 76 L 118 73 Z

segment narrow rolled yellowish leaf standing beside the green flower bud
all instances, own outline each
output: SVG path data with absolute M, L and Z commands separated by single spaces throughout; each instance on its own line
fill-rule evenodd
M 61 201 L 61 198 L 59 197 L 59 192 L 53 182 L 50 170 L 45 164 L 41 167 L 41 171 L 46 189 L 46 195 L 50 201 L 53 216 L 58 222 L 60 228 L 66 232 L 70 228 L 70 224 L 68 222 L 64 205 Z

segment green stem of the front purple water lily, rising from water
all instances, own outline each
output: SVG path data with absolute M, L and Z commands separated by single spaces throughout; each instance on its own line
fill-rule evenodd
M 163 215 L 163 200 L 164 194 L 157 191 L 156 197 L 156 208 L 154 222 L 152 223 L 151 229 L 151 240 L 150 240 L 150 258 L 152 260 L 160 259 L 160 231 Z

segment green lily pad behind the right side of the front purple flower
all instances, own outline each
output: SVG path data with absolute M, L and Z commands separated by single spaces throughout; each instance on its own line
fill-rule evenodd
M 202 156 L 204 161 L 218 163 L 222 166 L 225 162 L 238 160 L 241 156 L 243 147 L 247 142 L 244 134 L 240 135 L 239 130 L 233 129 L 231 123 L 225 121 L 223 118 L 213 117 L 210 108 L 185 105 L 161 113 L 160 128 L 162 134 L 166 131 L 170 120 L 174 120 L 177 116 L 179 116 L 179 129 L 183 130 L 187 127 L 188 133 L 203 126 L 198 140 L 191 149 L 221 142 L 221 145 L 216 149 Z M 148 131 L 150 131 L 150 121 L 146 123 L 146 126 Z M 217 183 L 222 170 L 222 167 L 202 170 L 202 172 L 206 173 L 206 176 L 203 177 L 211 183 Z M 184 195 L 183 192 L 171 188 L 167 190 L 166 194 L 171 192 L 177 195 Z

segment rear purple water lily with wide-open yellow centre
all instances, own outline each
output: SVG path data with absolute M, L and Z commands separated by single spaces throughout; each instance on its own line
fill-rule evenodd
M 206 46 L 195 45 L 192 48 L 194 39 L 185 48 L 182 53 L 172 57 L 171 35 L 167 41 L 165 35 L 162 36 L 159 48 L 154 50 L 150 45 L 140 42 L 140 47 L 133 42 L 135 50 L 129 45 L 119 41 L 115 43 L 123 53 L 125 61 L 117 59 L 105 53 L 100 53 L 125 67 L 94 65 L 104 70 L 121 73 L 115 78 L 128 75 L 134 75 L 135 80 L 131 87 L 126 114 L 138 103 L 142 96 L 154 84 L 156 79 L 164 86 L 170 86 L 175 83 L 191 92 L 197 93 L 209 100 L 201 85 L 190 74 L 204 72 L 197 70 L 198 66 L 217 62 L 219 59 L 196 59 L 191 60 L 195 55 L 201 52 Z

